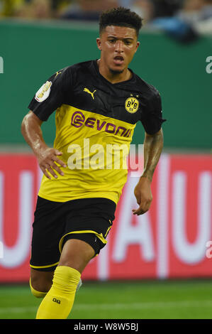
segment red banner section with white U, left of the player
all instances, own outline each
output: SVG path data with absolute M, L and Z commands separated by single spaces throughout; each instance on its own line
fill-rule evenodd
M 29 278 L 38 166 L 33 155 L 0 155 L 0 281 Z

